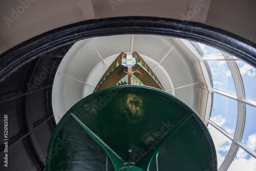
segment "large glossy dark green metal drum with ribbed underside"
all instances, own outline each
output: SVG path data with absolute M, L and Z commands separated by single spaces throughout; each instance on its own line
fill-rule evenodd
M 145 86 L 117 86 L 76 103 L 58 123 L 47 171 L 217 170 L 207 127 L 186 103 Z

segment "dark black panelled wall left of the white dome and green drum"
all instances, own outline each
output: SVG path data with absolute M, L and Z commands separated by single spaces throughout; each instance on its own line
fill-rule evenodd
M 26 149 L 27 154 L 30 155 L 27 160 L 34 162 L 33 168 L 25 166 L 26 169 L 41 170 L 45 168 L 46 149 L 41 147 L 48 144 L 50 136 L 56 127 L 51 101 L 53 80 L 60 61 L 72 46 L 73 44 L 70 44 L 69 46 L 57 48 L 50 53 L 40 55 L 38 58 L 28 62 L 24 67 L 17 69 L 15 74 L 10 75 L 0 83 L 0 105 L 8 106 L 8 108 L 0 108 L 0 113 L 8 114 L 10 127 L 15 127 L 16 124 L 21 125 L 19 132 L 16 134 L 10 130 L 8 147 L 10 149 L 15 147 Z M 46 70 L 43 69 L 44 67 L 48 67 L 50 70 L 48 69 L 46 73 Z M 24 74 L 20 75 L 20 73 Z M 34 84 L 35 77 L 40 77 L 41 73 L 47 74 L 46 77 L 41 80 L 40 84 Z M 17 77 L 21 79 L 16 81 Z M 19 84 L 18 90 L 13 84 Z M 28 84 L 32 86 L 30 87 Z M 7 88 L 7 86 L 10 88 Z M 12 105 L 14 101 L 20 101 L 20 104 Z M 33 106 L 40 106 L 40 109 L 44 110 L 33 108 Z M 12 112 L 12 108 L 16 109 L 16 113 Z M 20 120 L 18 122 L 12 120 L 12 118 L 19 116 Z M 0 126 L 3 126 L 1 120 Z M 48 135 L 47 137 L 44 136 L 46 134 Z M 38 137 L 42 137 L 44 141 L 38 140 Z M 1 157 L 3 150 L 4 144 L 0 144 Z M 23 154 L 22 157 L 20 155 L 16 157 L 15 152 L 9 152 L 10 156 L 16 157 L 15 164 L 17 165 L 22 164 L 22 158 L 26 157 L 27 154 Z M 3 165 L 0 165 L 0 170 L 3 169 L 2 167 Z

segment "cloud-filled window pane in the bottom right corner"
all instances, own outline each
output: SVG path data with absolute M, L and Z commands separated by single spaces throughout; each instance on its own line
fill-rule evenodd
M 255 171 L 256 170 L 256 159 L 246 153 L 242 148 L 239 147 L 238 153 L 234 160 L 230 164 L 228 171 Z

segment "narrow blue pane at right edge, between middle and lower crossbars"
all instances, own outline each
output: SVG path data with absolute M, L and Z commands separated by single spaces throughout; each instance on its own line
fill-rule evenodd
M 246 105 L 245 127 L 242 143 L 256 152 L 256 108 Z

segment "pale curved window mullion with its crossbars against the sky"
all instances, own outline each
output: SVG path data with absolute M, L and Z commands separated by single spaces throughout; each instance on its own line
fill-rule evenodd
M 256 152 L 254 152 L 247 145 L 245 145 L 241 142 L 243 132 L 244 132 L 245 119 L 246 119 L 246 104 L 251 105 L 254 108 L 256 108 L 256 101 L 246 99 L 246 97 L 245 97 L 242 76 L 241 76 L 241 73 L 237 66 L 237 63 L 236 63 L 237 59 L 232 58 L 231 55 L 229 55 L 223 51 L 221 51 L 221 53 L 223 54 L 224 60 L 227 62 L 227 65 L 228 65 L 231 75 L 233 77 L 237 95 L 229 93 L 229 92 L 225 92 L 225 91 L 222 91 L 219 89 L 215 89 L 212 87 L 209 87 L 208 90 L 211 93 L 218 93 L 222 96 L 236 100 L 238 102 L 238 118 L 237 118 L 236 132 L 235 132 L 234 136 L 232 136 L 229 133 L 227 133 L 224 129 L 222 129 L 222 127 L 220 127 L 219 125 L 214 123 L 213 121 L 211 121 L 209 119 L 205 119 L 205 121 L 207 123 L 209 123 L 210 125 L 214 126 L 219 132 L 221 132 L 224 136 L 226 136 L 229 140 L 232 141 L 229 151 L 228 151 L 224 161 L 222 162 L 220 168 L 218 169 L 219 171 L 225 171 L 228 169 L 228 167 L 232 163 L 234 157 L 236 156 L 236 154 L 238 152 L 239 147 L 244 149 L 245 152 L 247 152 L 249 155 L 251 155 L 252 157 L 254 157 L 256 159 Z M 215 58 L 215 56 L 213 56 L 211 58 L 202 57 L 200 59 L 201 60 L 219 60 L 220 57 L 219 58 Z

